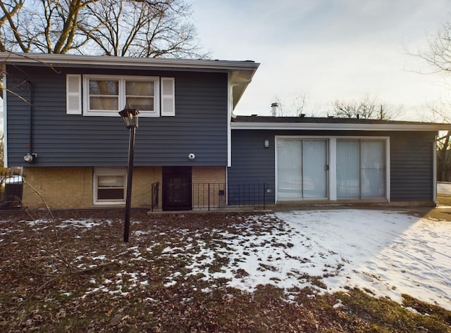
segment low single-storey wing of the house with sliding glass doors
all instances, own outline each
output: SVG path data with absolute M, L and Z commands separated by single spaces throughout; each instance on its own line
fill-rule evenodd
M 239 116 L 231 127 L 229 184 L 264 182 L 273 203 L 435 206 L 435 139 L 451 124 Z

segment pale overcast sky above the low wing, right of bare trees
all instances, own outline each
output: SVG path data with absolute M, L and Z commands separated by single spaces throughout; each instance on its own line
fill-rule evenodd
M 443 75 L 411 51 L 451 20 L 450 0 L 193 0 L 194 24 L 211 58 L 261 63 L 235 109 L 269 115 L 307 94 L 311 115 L 335 100 L 377 98 L 404 118 L 448 99 Z

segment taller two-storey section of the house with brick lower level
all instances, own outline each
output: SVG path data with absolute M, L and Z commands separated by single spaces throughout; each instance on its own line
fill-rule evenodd
M 191 184 L 221 184 L 231 165 L 230 118 L 259 64 L 58 54 L 0 54 L 6 165 L 23 168 L 29 208 L 125 204 L 129 131 L 140 110 L 132 206 L 190 209 Z M 218 187 L 219 185 L 217 185 Z M 203 189 L 199 187 L 199 189 Z M 203 192 L 203 191 L 202 191 Z M 197 202 L 195 205 L 199 206 Z

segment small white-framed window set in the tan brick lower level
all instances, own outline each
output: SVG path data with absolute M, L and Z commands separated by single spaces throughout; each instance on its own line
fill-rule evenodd
M 125 169 L 96 168 L 94 170 L 94 204 L 125 203 Z

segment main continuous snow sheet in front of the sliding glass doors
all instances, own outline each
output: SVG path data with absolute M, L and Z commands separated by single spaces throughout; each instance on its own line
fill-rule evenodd
M 291 287 L 319 285 L 330 292 L 359 287 L 398 302 L 401 294 L 409 294 L 451 310 L 451 222 L 356 209 L 292 211 L 254 219 L 279 220 L 278 227 L 249 232 L 244 223 L 238 234 L 214 231 L 227 245 L 211 249 L 197 242 L 201 250 L 192 257 L 190 274 L 226 277 L 230 287 L 248 291 L 258 284 L 288 292 Z M 206 265 L 218 256 L 229 258 L 228 265 L 210 273 Z M 315 282 L 311 277 L 321 278 Z

